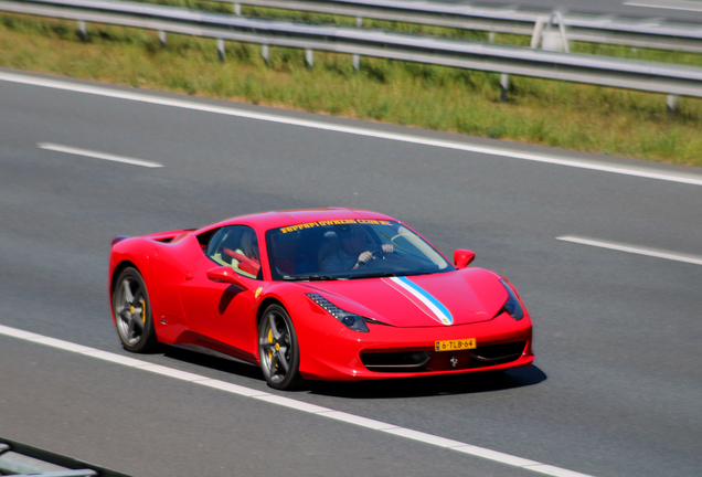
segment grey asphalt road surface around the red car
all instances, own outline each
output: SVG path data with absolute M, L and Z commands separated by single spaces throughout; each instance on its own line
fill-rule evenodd
M 114 236 L 328 205 L 394 215 L 447 255 L 476 251 L 476 266 L 520 290 L 536 361 L 504 377 L 281 394 L 595 476 L 700 475 L 702 266 L 556 237 L 702 256 L 702 187 L 0 81 L 0 325 L 127 354 L 108 308 Z M 177 350 L 141 359 L 270 391 L 257 369 L 224 360 Z M 0 436 L 143 477 L 536 475 L 1 336 Z

